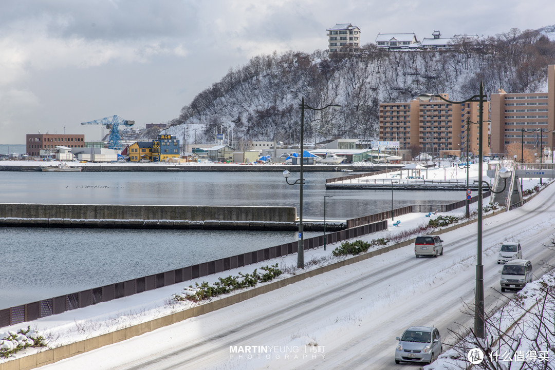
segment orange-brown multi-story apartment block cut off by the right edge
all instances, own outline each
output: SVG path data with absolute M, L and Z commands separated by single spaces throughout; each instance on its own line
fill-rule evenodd
M 505 153 L 506 146 L 512 143 L 534 149 L 538 156 L 542 155 L 542 147 L 553 148 L 555 65 L 549 65 L 547 70 L 547 93 L 510 94 L 499 89 L 498 94 L 491 94 L 493 153 Z

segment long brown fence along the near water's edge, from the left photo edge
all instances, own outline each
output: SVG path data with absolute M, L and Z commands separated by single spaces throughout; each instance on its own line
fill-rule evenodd
M 387 221 L 382 220 L 371 224 L 360 225 L 350 229 L 327 234 L 327 243 L 360 237 L 387 229 Z M 304 249 L 317 248 L 324 245 L 324 237 L 304 239 Z M 165 271 L 164 273 L 143 276 L 142 278 L 116 282 L 105 286 L 95 287 L 80 292 L 65 294 L 38 302 L 9 307 L 0 310 L 0 327 L 15 325 L 20 322 L 36 320 L 37 318 L 61 314 L 62 312 L 87 307 L 100 302 L 107 302 L 162 286 L 188 281 L 202 276 L 221 273 L 221 271 L 235 269 L 261 261 L 273 259 L 297 252 L 297 242 L 272 246 L 253 252 L 247 252 L 231 257 L 187 266 L 180 269 Z

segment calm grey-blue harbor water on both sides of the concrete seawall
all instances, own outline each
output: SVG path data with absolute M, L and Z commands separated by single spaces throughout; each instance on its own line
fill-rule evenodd
M 391 209 L 391 191 L 326 191 L 336 176 L 306 173 L 305 219 L 323 218 L 324 195 L 333 197 L 327 219 Z M 395 191 L 393 206 L 464 197 Z M 0 172 L 0 202 L 298 207 L 299 187 L 281 172 Z M 295 240 L 295 232 L 0 228 L 0 309 Z

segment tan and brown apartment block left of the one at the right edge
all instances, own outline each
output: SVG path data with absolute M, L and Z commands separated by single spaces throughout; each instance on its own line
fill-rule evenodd
M 441 95 L 449 99 L 447 94 Z M 483 120 L 487 120 L 488 110 L 486 101 Z M 421 152 L 445 157 L 466 153 L 468 138 L 468 151 L 477 154 L 478 128 L 467 124 L 467 120 L 478 122 L 478 102 L 450 104 L 432 97 L 430 101 L 417 98 L 410 102 L 381 103 L 380 141 L 398 141 L 400 150 L 418 147 Z M 489 152 L 486 142 L 482 149 Z

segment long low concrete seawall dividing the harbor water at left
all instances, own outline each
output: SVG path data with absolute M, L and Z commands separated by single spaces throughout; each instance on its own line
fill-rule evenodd
M 0 203 L 0 226 L 295 229 L 295 207 Z

